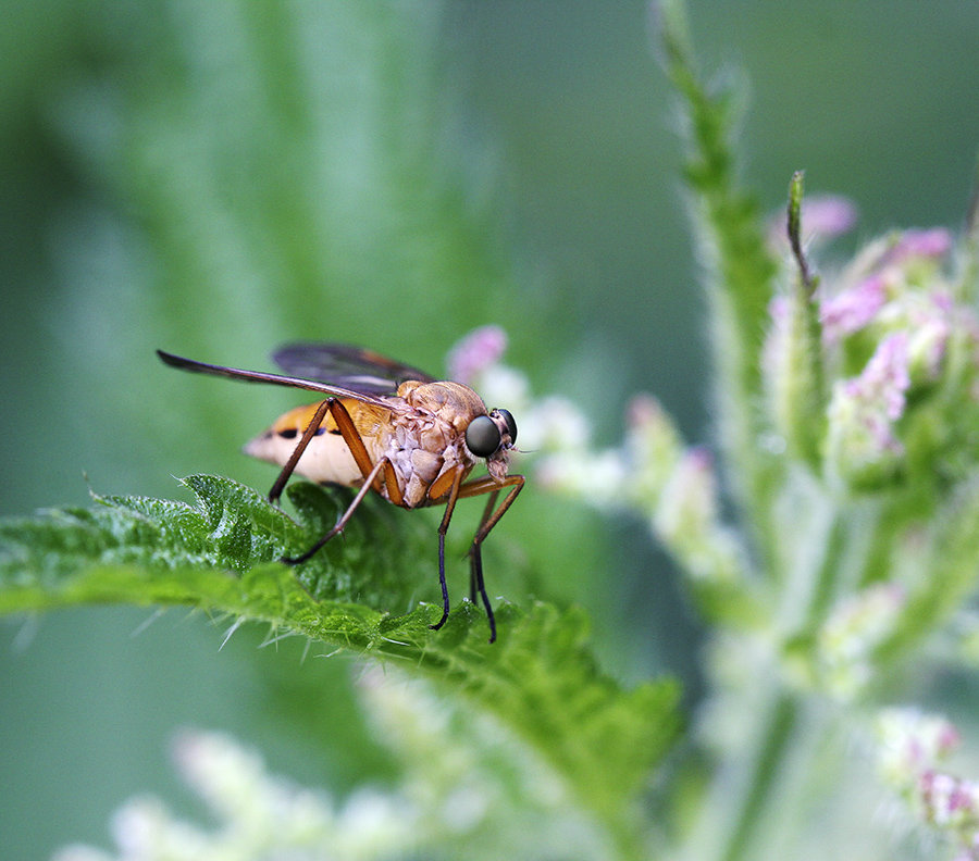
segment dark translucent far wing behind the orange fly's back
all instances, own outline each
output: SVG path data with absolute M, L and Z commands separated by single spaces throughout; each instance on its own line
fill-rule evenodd
M 289 344 L 280 347 L 272 359 L 287 374 L 363 395 L 392 395 L 408 379 L 435 382 L 417 367 L 346 344 Z

